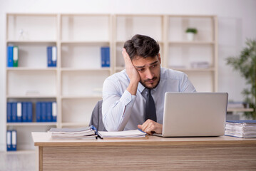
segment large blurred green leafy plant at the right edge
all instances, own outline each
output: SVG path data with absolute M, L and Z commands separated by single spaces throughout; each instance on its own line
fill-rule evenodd
M 245 95 L 245 103 L 248 103 L 253 112 L 246 112 L 248 119 L 256 119 L 256 40 L 247 39 L 246 47 L 241 51 L 238 57 L 228 57 L 227 65 L 240 72 L 245 78 L 247 88 L 242 90 Z

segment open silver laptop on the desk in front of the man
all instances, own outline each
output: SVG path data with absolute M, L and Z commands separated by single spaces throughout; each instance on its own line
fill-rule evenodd
M 220 136 L 225 132 L 227 93 L 165 93 L 163 137 Z

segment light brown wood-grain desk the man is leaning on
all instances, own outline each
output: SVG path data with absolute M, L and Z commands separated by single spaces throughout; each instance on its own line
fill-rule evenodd
M 256 139 L 52 140 L 32 133 L 39 170 L 256 170 Z

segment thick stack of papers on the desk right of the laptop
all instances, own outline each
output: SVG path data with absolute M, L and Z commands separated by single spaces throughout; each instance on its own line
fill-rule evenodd
M 256 120 L 227 121 L 225 135 L 238 138 L 256 138 Z

